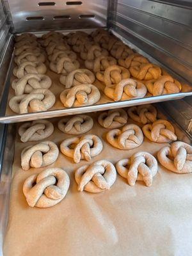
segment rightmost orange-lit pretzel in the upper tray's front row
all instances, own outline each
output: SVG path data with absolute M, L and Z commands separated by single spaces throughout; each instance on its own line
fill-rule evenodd
M 145 84 L 148 92 L 153 96 L 179 93 L 181 90 L 181 84 L 179 81 L 173 79 L 171 76 L 160 76 L 157 80 L 153 79 L 147 81 Z

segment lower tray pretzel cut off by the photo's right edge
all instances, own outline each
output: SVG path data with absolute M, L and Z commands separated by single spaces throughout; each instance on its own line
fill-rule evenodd
M 157 157 L 159 162 L 172 172 L 192 172 L 192 147 L 188 143 L 175 141 L 171 146 L 161 148 Z

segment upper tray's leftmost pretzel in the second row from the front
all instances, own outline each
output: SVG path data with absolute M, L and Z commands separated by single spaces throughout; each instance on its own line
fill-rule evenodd
M 27 74 L 12 82 L 12 88 L 15 90 L 15 95 L 31 93 L 34 89 L 49 89 L 52 81 L 49 76 L 42 74 Z

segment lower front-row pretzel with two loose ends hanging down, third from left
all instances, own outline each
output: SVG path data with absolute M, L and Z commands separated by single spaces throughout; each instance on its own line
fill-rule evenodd
M 147 152 L 137 152 L 130 159 L 122 159 L 116 163 L 117 172 L 131 186 L 134 186 L 136 180 L 143 180 L 146 186 L 151 186 L 157 168 L 156 158 Z

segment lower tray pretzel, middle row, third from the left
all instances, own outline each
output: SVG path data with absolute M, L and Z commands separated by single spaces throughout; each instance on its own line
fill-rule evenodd
M 143 143 L 143 132 L 136 124 L 127 124 L 122 130 L 113 129 L 107 133 L 108 142 L 115 148 L 129 150 L 140 147 Z

